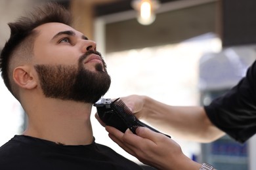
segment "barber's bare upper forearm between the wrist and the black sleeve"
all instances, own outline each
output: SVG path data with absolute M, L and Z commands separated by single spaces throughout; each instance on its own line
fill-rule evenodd
M 211 124 L 203 107 L 173 107 L 150 97 L 142 96 L 142 99 L 140 117 L 169 135 L 203 143 L 224 135 Z

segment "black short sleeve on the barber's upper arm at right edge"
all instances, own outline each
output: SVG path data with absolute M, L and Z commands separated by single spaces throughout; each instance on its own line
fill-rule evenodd
M 256 133 L 255 62 L 234 88 L 204 107 L 211 122 L 240 143 Z

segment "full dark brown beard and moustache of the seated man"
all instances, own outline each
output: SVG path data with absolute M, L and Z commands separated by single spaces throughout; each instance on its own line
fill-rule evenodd
M 45 97 L 95 103 L 108 92 L 111 78 L 106 71 L 106 63 L 102 59 L 103 67 L 97 63 L 96 71 L 87 70 L 83 60 L 89 54 L 100 56 L 98 52 L 89 51 L 79 58 L 78 67 L 77 65 L 35 65 Z

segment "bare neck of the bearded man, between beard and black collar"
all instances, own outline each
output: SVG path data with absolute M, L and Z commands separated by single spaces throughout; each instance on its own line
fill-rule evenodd
M 91 104 L 47 99 L 35 106 L 26 110 L 28 128 L 24 135 L 65 145 L 93 142 Z

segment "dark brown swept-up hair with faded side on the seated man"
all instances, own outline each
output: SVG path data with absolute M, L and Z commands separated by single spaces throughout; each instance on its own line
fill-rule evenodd
M 9 23 L 11 35 L 0 56 L 0 72 L 8 90 L 16 96 L 16 88 L 12 80 L 12 67 L 15 61 L 28 61 L 33 56 L 33 43 L 37 35 L 34 30 L 42 24 L 59 22 L 66 25 L 72 24 L 70 12 L 57 3 L 45 3 L 35 7 L 26 16 L 20 17 L 16 22 Z

